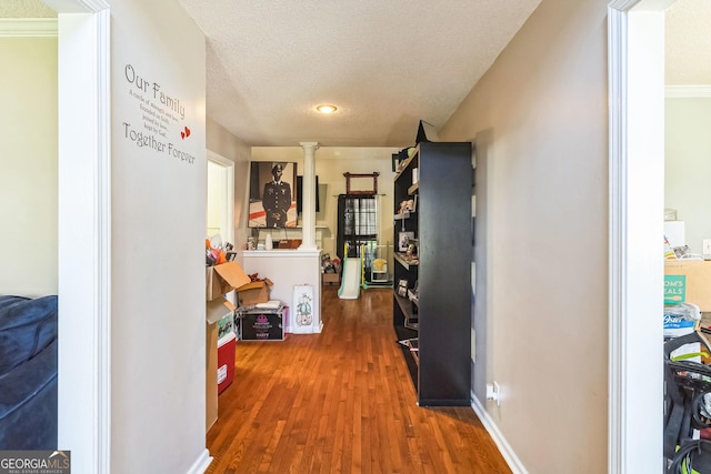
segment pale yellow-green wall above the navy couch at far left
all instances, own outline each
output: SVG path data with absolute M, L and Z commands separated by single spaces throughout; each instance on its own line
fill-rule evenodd
M 56 294 L 57 38 L 1 38 L 0 63 L 0 294 Z

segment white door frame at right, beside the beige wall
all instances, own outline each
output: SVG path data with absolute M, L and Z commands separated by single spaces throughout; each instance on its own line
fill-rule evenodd
M 608 472 L 663 471 L 664 9 L 608 8 Z

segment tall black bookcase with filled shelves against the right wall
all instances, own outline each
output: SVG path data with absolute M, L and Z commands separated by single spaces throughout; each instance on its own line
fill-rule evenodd
M 421 406 L 470 405 L 471 195 L 471 143 L 421 142 L 395 173 L 393 325 Z

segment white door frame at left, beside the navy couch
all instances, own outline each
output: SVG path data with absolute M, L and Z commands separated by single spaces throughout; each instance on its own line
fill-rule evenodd
M 59 440 L 72 471 L 111 471 L 110 11 L 58 12 Z M 71 14 L 67 14 L 71 13 Z

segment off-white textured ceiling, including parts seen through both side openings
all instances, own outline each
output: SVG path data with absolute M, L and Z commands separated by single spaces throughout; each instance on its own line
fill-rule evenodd
M 176 1 L 208 39 L 208 115 L 246 143 L 394 148 L 419 120 L 443 125 L 540 3 Z M 0 18 L 53 16 L 0 0 Z M 711 84 L 711 0 L 677 0 L 665 23 L 667 83 Z

